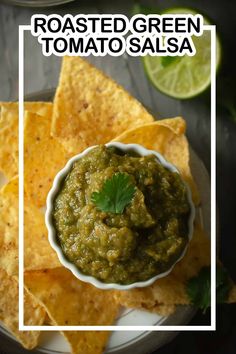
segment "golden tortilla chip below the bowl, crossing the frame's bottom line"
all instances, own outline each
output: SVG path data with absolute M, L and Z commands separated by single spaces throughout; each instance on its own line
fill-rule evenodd
M 112 325 L 119 305 L 112 291 L 81 282 L 61 267 L 25 273 L 25 286 L 55 325 Z M 73 353 L 102 353 L 109 333 L 63 332 Z

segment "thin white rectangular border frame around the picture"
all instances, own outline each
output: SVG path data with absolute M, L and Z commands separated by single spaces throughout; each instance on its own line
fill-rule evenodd
M 24 31 L 19 26 L 19 330 L 20 331 L 215 331 L 216 330 L 216 26 L 211 32 L 211 324 L 207 326 L 25 326 L 24 325 Z

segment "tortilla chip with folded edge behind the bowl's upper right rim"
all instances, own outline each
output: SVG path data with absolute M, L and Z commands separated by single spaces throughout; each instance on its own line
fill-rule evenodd
M 186 125 L 181 117 L 163 119 L 124 132 L 113 141 L 136 143 L 161 153 L 179 169 L 191 188 L 194 203 L 198 205 L 200 197 L 189 167 L 189 147 L 184 135 L 185 129 Z

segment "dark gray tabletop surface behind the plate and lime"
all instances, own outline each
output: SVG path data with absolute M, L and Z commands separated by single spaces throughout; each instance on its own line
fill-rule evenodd
M 0 100 L 13 100 L 18 94 L 18 25 L 29 24 L 34 13 L 124 13 L 130 14 L 133 1 L 75 1 L 65 6 L 48 9 L 26 9 L 0 4 Z M 222 63 L 217 76 L 217 202 L 220 222 L 220 255 L 224 265 L 236 281 L 236 1 L 143 1 L 159 9 L 192 6 L 217 25 L 223 47 Z M 210 172 L 210 91 L 186 101 L 168 98 L 156 91 L 146 79 L 139 58 L 91 58 L 117 82 L 150 107 L 156 116 L 182 115 L 188 124 L 187 135 L 194 150 Z M 45 58 L 36 39 L 25 40 L 25 93 L 32 93 L 57 85 L 60 59 Z M 191 324 L 205 324 L 209 313 L 197 315 Z M 158 350 L 160 354 L 183 353 L 236 353 L 236 305 L 217 308 L 215 333 L 182 333 L 171 344 Z M 23 353 L 9 351 L 7 342 L 0 337 L 0 354 Z M 11 347 L 12 348 L 12 347 Z

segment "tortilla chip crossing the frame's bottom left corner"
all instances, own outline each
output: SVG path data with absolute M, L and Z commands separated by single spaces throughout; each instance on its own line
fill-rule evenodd
M 36 303 L 33 297 L 25 293 L 24 324 L 40 326 L 44 322 L 45 310 Z M 18 330 L 18 282 L 0 268 L 0 320 L 6 328 L 27 348 L 38 345 L 39 331 Z

